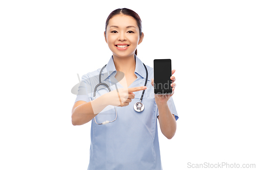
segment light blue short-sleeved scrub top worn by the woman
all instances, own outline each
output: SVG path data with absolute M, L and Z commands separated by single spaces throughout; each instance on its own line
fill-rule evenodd
M 141 60 L 135 55 L 137 79 L 128 87 L 144 86 L 146 70 Z M 154 87 L 151 79 L 154 78 L 154 70 L 147 66 L 147 89 L 144 92 L 142 103 L 145 109 L 142 112 L 134 110 L 133 106 L 140 101 L 142 91 L 136 91 L 135 99 L 125 107 L 116 107 L 117 119 L 106 125 L 97 125 L 94 118 L 91 120 L 91 147 L 89 170 L 94 169 L 162 169 L 160 149 L 158 141 L 157 116 L 158 108 L 154 98 Z M 82 76 L 78 95 L 75 100 L 90 102 L 93 100 L 95 86 L 99 83 L 101 68 Z M 111 90 L 123 88 L 120 83 L 114 84 L 116 67 L 113 56 L 102 70 L 101 82 L 109 85 Z M 98 86 L 96 98 L 107 93 L 106 86 Z M 168 102 L 170 112 L 179 118 L 173 98 Z M 95 119 L 97 123 L 105 120 L 114 120 L 116 112 L 114 106 L 107 106 Z

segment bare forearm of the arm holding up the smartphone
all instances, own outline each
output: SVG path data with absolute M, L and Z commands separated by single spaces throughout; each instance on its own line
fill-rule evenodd
M 161 132 L 165 137 L 171 139 L 176 132 L 176 120 L 173 114 L 170 112 L 167 103 L 158 104 L 157 107 L 159 112 L 158 120 Z

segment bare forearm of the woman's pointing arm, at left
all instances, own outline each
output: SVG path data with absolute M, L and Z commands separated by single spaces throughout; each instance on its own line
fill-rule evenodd
M 77 106 L 72 113 L 72 124 L 83 125 L 90 122 L 99 112 L 101 112 L 108 103 L 105 95 L 99 98 Z

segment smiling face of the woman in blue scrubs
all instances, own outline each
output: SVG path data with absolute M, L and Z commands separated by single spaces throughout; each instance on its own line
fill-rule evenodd
M 134 56 L 144 35 L 142 33 L 140 37 L 139 27 L 133 17 L 118 14 L 109 20 L 104 36 L 114 56 L 129 57 Z

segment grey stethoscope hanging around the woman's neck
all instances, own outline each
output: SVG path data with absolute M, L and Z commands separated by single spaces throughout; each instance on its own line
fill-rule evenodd
M 144 86 L 146 86 L 147 74 L 148 74 L 148 72 L 147 72 L 147 69 L 146 69 L 146 66 L 145 66 L 144 63 L 143 63 L 143 65 L 144 65 L 145 70 L 146 70 L 146 80 L 145 80 L 145 84 L 144 84 Z M 111 91 L 111 89 L 110 89 L 110 87 L 108 86 L 108 84 L 101 83 L 101 72 L 102 72 L 102 70 L 103 70 L 105 67 L 106 67 L 106 65 L 104 65 L 104 66 L 101 68 L 101 70 L 100 70 L 100 73 L 99 73 L 99 84 L 97 84 L 97 85 L 95 86 L 95 88 L 94 88 L 93 100 L 95 99 L 95 96 L 96 96 L 96 89 L 97 89 L 97 87 L 98 87 L 99 85 L 105 85 L 106 87 L 108 87 L 109 92 Z M 135 103 L 134 106 L 133 106 L 134 110 L 137 111 L 137 112 L 142 112 L 142 111 L 144 110 L 144 108 L 145 108 L 144 105 L 141 103 L 142 98 L 143 98 L 143 95 L 144 95 L 144 92 L 145 92 L 145 90 L 142 91 L 140 101 L 137 102 L 137 103 Z M 116 106 L 114 106 L 114 107 L 115 107 L 115 111 L 116 111 Z M 117 112 L 116 112 L 116 118 L 117 118 Z M 98 124 L 98 125 L 105 125 L 105 124 L 114 122 L 114 121 L 116 120 L 116 118 L 115 118 L 114 120 L 112 120 L 112 121 L 106 120 L 106 121 L 102 122 L 101 124 L 98 124 L 98 123 L 96 122 L 95 117 L 94 117 L 94 120 L 95 120 L 95 123 Z

